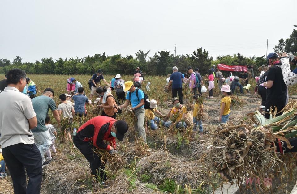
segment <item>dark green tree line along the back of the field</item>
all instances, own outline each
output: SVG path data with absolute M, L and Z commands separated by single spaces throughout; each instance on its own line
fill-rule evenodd
M 297 27 L 294 25 L 294 27 Z M 294 29 L 286 40 L 280 39 L 279 44 L 274 48 L 275 52 L 288 52 L 297 54 L 297 31 Z M 136 67 L 149 75 L 167 75 L 172 73 L 172 67 L 177 66 L 180 72 L 185 72 L 188 66 L 198 67 L 201 74 L 206 74 L 212 65 L 244 65 L 253 66 L 255 75 L 258 74 L 258 67 L 266 64 L 265 55 L 259 57 L 244 57 L 240 53 L 234 55 L 218 56 L 215 60 L 209 56 L 208 51 L 201 47 L 192 54 L 177 55 L 169 51 L 159 51 L 149 57 L 150 51 L 138 50 L 132 55 L 121 56 L 120 54 L 106 56 L 105 53 L 95 54 L 83 58 L 71 57 L 69 59 L 52 57 L 43 58 L 41 61 L 24 62 L 20 56 L 13 61 L 0 59 L 0 73 L 5 74 L 13 68 L 20 68 L 27 74 L 93 74 L 102 69 L 105 74 L 133 74 Z

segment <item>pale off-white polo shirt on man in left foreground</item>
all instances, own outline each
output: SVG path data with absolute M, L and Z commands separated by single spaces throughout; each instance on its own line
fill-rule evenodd
M 18 143 L 33 144 L 28 119 L 36 116 L 31 99 L 15 87 L 0 93 L 0 144 L 2 148 Z

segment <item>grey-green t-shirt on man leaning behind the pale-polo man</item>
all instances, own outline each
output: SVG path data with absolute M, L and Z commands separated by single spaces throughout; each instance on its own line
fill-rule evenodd
M 47 128 L 45 126 L 45 117 L 49 112 L 57 110 L 56 103 L 48 96 L 41 95 L 32 99 L 32 104 L 37 117 L 37 127 L 32 129 L 32 132 L 45 132 Z

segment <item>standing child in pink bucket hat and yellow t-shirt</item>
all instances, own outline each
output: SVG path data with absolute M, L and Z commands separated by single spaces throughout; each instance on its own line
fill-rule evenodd
M 221 123 L 226 123 L 229 120 L 230 104 L 231 104 L 231 90 L 229 85 L 223 85 L 221 91 L 225 96 L 221 100 L 221 110 L 220 110 L 220 118 L 219 121 Z

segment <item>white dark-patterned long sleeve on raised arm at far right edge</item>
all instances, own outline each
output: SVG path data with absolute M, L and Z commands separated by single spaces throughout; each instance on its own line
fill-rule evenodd
M 297 74 L 291 72 L 289 57 L 281 57 L 282 62 L 282 78 L 287 86 L 297 83 Z

